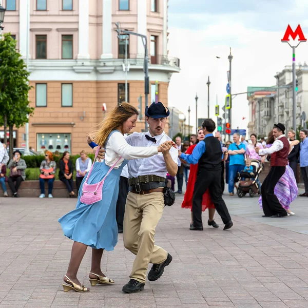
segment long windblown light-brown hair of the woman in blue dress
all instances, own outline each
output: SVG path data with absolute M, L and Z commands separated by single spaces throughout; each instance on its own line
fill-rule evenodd
M 121 127 L 125 121 L 135 114 L 139 115 L 138 110 L 129 103 L 122 103 L 115 107 L 108 117 L 99 124 L 99 130 L 93 133 L 93 141 L 102 147 L 106 146 L 110 132 Z

